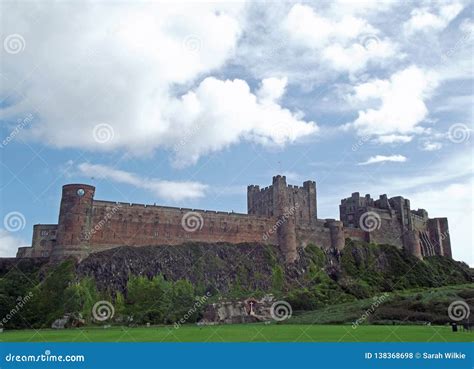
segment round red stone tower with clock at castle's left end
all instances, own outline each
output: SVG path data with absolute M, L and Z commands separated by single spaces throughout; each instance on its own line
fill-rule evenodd
M 53 259 L 87 255 L 89 241 L 85 235 L 92 226 L 94 192 L 95 187 L 85 184 L 63 186 L 57 240 L 51 254 Z

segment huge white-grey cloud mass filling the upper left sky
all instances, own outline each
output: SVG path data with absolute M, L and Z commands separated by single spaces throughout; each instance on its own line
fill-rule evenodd
M 0 94 L 20 93 L 0 117 L 36 111 L 30 138 L 135 155 L 182 146 L 175 162 L 187 165 L 241 140 L 285 145 L 317 130 L 280 105 L 284 77 L 263 80 L 257 92 L 243 80 L 206 78 L 234 55 L 244 4 L 6 6 L 2 32 L 21 34 L 26 46 L 5 54 Z

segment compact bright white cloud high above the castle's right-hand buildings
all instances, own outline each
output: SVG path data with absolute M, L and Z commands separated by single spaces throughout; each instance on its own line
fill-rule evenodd
M 422 132 L 419 124 L 428 116 L 425 100 L 437 85 L 434 72 L 416 66 L 394 73 L 390 79 L 359 84 L 349 101 L 364 109 L 347 128 L 355 128 L 363 136 Z

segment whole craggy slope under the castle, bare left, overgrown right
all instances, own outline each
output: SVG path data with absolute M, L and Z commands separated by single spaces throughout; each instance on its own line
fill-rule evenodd
M 298 254 L 295 263 L 285 264 L 277 246 L 253 243 L 119 247 L 89 255 L 76 271 L 78 278 L 93 277 L 99 290 L 126 292 L 129 275 L 162 274 L 219 295 L 287 295 L 309 289 L 328 301 L 336 290 L 365 298 L 380 291 L 471 281 L 463 263 L 440 256 L 419 260 L 388 245 L 348 242 L 342 251 L 310 245 Z

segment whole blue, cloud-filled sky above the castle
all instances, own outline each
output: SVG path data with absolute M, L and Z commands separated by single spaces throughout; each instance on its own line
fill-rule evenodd
M 0 4 L 0 256 L 97 199 L 246 212 L 314 180 L 448 217 L 474 265 L 472 2 Z

